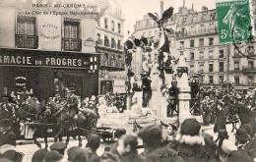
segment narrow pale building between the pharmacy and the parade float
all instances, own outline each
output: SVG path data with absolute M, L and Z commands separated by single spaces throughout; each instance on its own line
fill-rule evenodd
M 114 82 L 125 81 L 123 75 L 125 74 L 123 50 L 124 21 L 120 6 L 112 1 L 107 1 L 107 8 L 96 23 L 96 52 L 100 53 L 101 65 L 99 93 L 113 91 Z M 116 75 L 112 75 L 113 73 Z M 108 84 L 111 85 L 109 86 Z M 106 90 L 106 86 L 111 88 Z M 124 92 L 124 90 L 121 91 Z

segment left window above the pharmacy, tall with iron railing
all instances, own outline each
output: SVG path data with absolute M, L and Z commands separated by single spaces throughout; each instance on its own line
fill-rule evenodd
M 37 48 L 35 18 L 18 16 L 15 34 L 16 46 L 20 48 Z

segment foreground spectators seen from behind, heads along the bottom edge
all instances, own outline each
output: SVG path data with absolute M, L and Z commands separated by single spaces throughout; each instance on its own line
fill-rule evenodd
M 32 162 L 253 162 L 256 158 L 255 135 L 248 135 L 247 130 L 240 128 L 235 133 L 235 144 L 228 137 L 220 143 L 213 135 L 204 133 L 201 124 L 193 118 L 184 120 L 179 130 L 152 125 L 133 135 L 122 135 L 98 155 L 100 138 L 100 135 L 89 135 L 84 148 L 67 148 L 65 143 L 55 142 L 49 150 L 35 151 Z M 12 143 L 0 146 L 0 161 L 20 162 L 23 156 Z

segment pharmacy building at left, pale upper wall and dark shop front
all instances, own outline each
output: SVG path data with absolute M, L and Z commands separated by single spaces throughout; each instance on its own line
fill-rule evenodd
M 70 85 L 82 98 L 98 93 L 101 6 L 70 3 L 1 1 L 1 95 L 31 91 L 45 100 Z

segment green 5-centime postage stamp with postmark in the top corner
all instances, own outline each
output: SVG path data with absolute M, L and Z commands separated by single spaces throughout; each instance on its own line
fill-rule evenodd
M 248 40 L 252 35 L 249 0 L 218 0 L 216 8 L 220 42 Z

